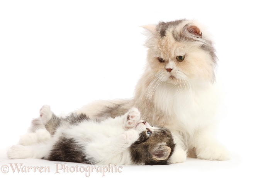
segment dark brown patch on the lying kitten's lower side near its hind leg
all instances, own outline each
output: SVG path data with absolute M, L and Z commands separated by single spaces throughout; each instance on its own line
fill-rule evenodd
M 77 144 L 73 138 L 65 138 L 64 136 L 60 137 L 59 141 L 54 144 L 46 160 L 85 164 L 93 163 L 93 160 L 86 159 L 83 146 Z

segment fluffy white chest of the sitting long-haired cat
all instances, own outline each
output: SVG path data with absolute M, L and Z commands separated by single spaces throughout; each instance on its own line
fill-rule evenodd
M 165 126 L 193 135 L 195 130 L 214 123 L 218 103 L 216 94 L 212 85 L 208 87 L 194 85 L 193 90 L 190 88 L 179 90 L 178 87 L 170 89 L 162 85 L 156 90 L 154 101 L 165 113 L 166 118 L 162 120 Z

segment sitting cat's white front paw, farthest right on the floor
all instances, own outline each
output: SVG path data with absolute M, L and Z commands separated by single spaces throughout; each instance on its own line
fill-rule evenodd
M 196 149 L 196 155 L 198 159 L 202 160 L 229 160 L 230 153 L 222 145 L 205 146 Z

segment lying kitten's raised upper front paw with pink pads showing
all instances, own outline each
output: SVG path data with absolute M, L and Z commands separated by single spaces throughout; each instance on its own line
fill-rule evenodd
M 125 114 L 125 128 L 133 128 L 136 126 L 137 122 L 141 118 L 141 113 L 137 108 L 131 108 L 126 114 Z

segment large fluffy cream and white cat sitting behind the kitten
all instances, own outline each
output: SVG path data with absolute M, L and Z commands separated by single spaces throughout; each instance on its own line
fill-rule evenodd
M 207 30 L 185 19 L 144 28 L 147 64 L 134 98 L 97 101 L 76 112 L 115 117 L 134 106 L 142 120 L 171 130 L 176 143 L 171 163 L 184 162 L 189 153 L 205 160 L 229 159 L 229 152 L 215 139 L 217 57 Z

